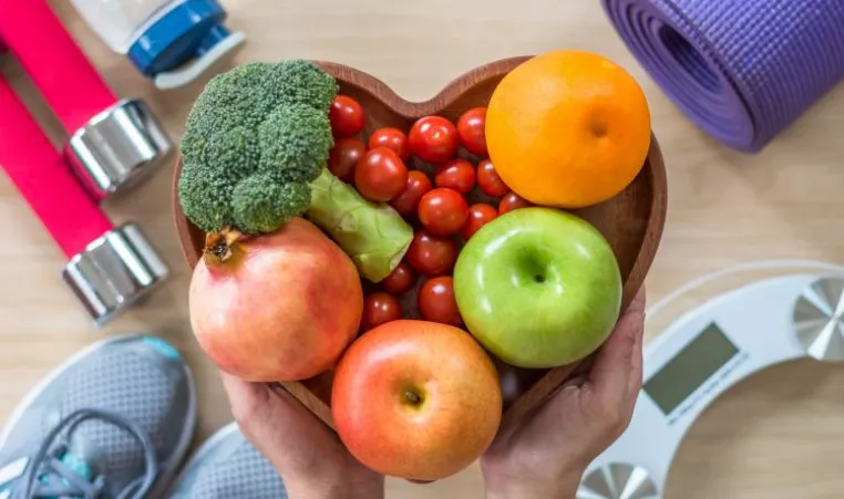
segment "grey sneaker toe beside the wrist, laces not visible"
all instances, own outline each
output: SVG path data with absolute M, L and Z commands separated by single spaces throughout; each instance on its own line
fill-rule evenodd
M 236 423 L 199 447 L 173 484 L 172 499 L 287 499 L 278 471 Z

